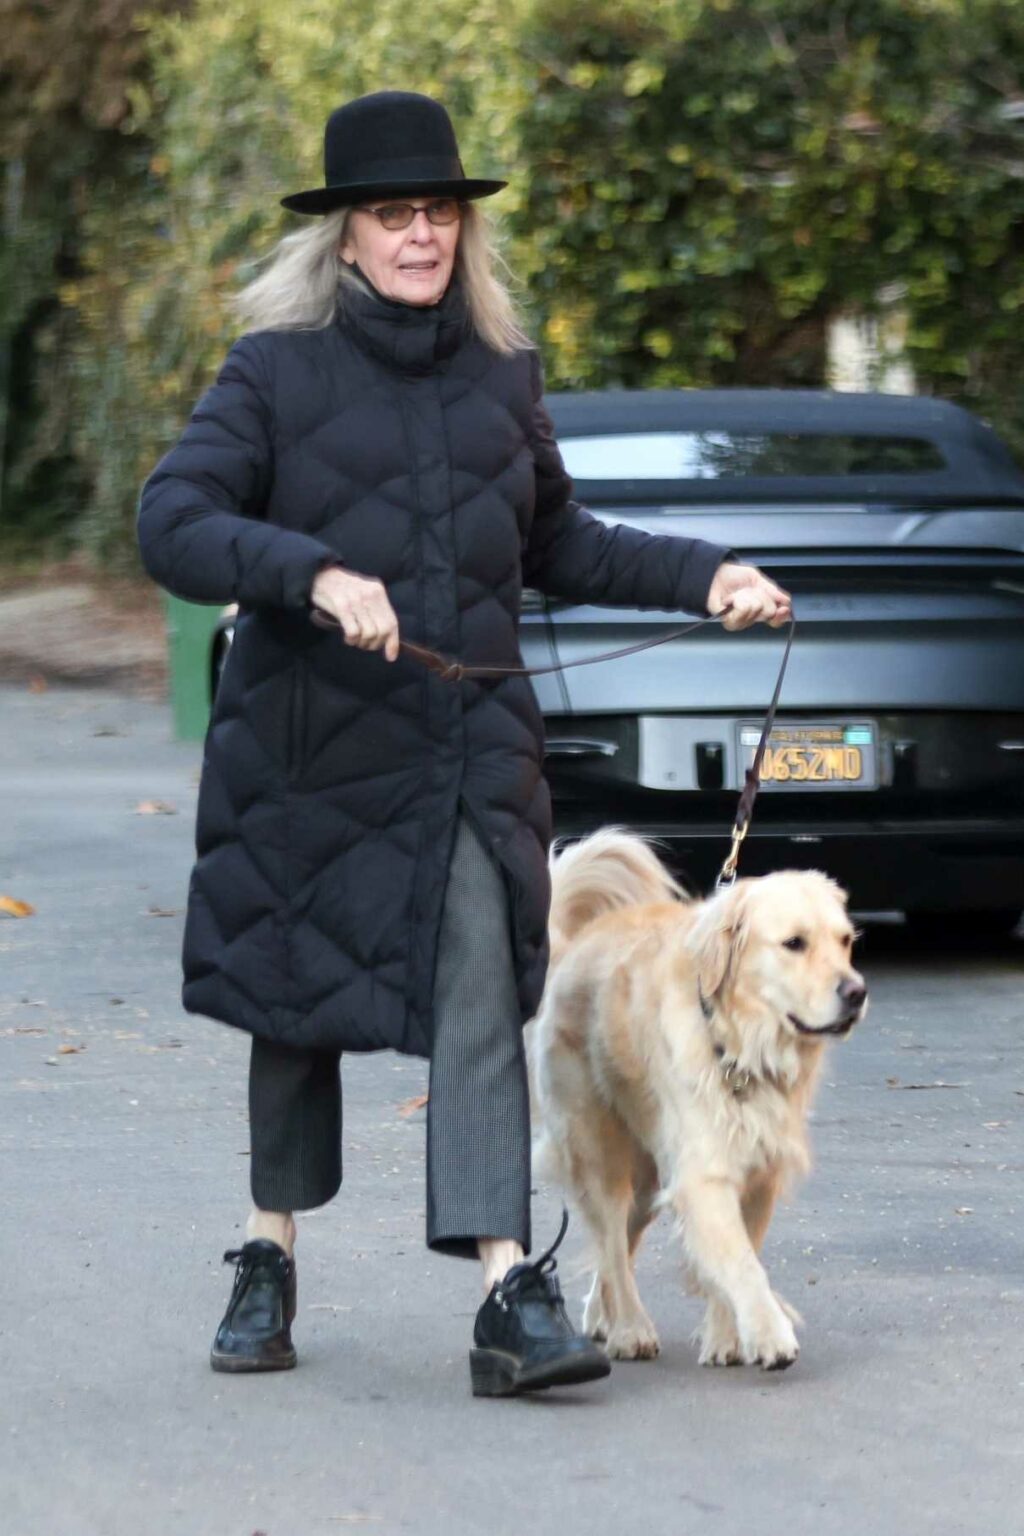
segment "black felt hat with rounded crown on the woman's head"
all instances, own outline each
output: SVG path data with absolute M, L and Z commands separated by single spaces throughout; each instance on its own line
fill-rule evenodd
M 375 91 L 330 114 L 324 183 L 282 197 L 281 206 L 295 214 L 330 214 L 367 198 L 477 198 L 508 186 L 465 175 L 451 118 L 441 101 L 415 91 Z

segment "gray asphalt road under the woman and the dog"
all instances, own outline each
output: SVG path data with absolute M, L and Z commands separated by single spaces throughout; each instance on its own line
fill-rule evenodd
M 244 1037 L 178 1001 L 201 750 L 166 708 L 0 691 L 0 1530 L 953 1536 L 1021 1530 L 1019 940 L 869 928 L 817 1167 L 766 1263 L 794 1370 L 702 1370 L 668 1223 L 656 1362 L 476 1401 L 476 1266 L 424 1247 L 422 1063 L 345 1063 L 345 1186 L 301 1223 L 299 1369 L 207 1367 L 247 1210 Z M 175 814 L 146 814 L 166 802 Z M 554 1235 L 540 1189 L 536 1233 Z M 562 1279 L 585 1290 L 574 1223 Z M 579 1313 L 577 1313 L 579 1315 Z

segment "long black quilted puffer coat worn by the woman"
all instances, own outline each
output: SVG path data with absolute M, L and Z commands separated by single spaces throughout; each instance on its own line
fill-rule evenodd
M 524 581 L 703 611 L 723 550 L 571 501 L 531 352 L 457 289 L 356 295 L 322 330 L 250 332 L 138 508 L 147 571 L 239 604 L 206 737 L 183 1001 L 295 1046 L 430 1054 L 459 803 L 505 872 L 524 1020 L 547 968 L 551 809 L 528 679 L 444 682 L 309 619 L 325 564 L 378 576 L 405 639 L 522 665 Z

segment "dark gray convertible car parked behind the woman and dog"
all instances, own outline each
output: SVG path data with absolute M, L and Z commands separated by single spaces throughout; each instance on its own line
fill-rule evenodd
M 1024 475 L 935 399 L 803 390 L 551 395 L 608 522 L 731 545 L 797 634 L 742 874 L 820 868 L 861 909 L 1012 928 L 1024 908 Z M 528 667 L 672 628 L 525 593 Z M 706 888 L 729 846 L 785 634 L 709 625 L 536 679 L 556 831 L 656 836 Z

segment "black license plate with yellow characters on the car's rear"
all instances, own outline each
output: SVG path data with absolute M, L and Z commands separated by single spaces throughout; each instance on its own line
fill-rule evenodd
M 737 730 L 740 768 L 754 762 L 761 725 Z M 766 790 L 877 790 L 878 733 L 874 720 L 800 720 L 772 727 L 761 759 Z

